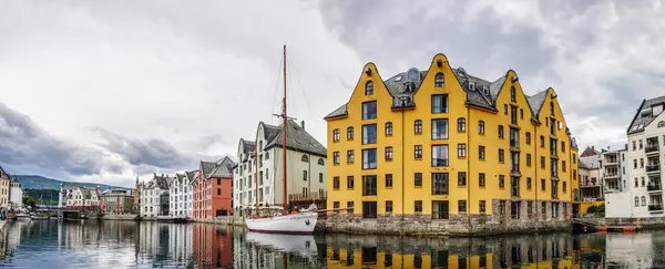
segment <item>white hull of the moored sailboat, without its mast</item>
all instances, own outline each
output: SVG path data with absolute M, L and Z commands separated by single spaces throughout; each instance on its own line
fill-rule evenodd
M 249 231 L 254 232 L 311 235 L 317 219 L 317 213 L 299 213 L 268 218 L 245 219 L 245 225 Z

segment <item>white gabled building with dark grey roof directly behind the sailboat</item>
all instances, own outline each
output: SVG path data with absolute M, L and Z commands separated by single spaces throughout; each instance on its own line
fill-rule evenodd
M 326 147 L 305 131 L 305 122 L 287 123 L 287 200 L 290 206 L 326 206 Z M 241 139 L 234 167 L 234 207 L 283 206 L 283 125 L 258 123 L 253 141 Z

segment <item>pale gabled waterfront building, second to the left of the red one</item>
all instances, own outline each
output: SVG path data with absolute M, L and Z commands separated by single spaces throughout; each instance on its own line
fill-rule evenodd
M 168 194 L 163 199 L 163 194 L 168 192 L 168 185 L 175 180 L 175 177 L 155 173 L 147 183 L 141 184 L 141 217 L 155 218 L 162 215 L 168 215 Z M 166 211 L 164 213 L 164 209 Z

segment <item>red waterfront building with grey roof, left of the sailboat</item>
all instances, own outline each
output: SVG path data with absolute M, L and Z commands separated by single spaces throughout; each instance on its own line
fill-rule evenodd
M 214 219 L 233 213 L 233 167 L 229 157 L 217 162 L 201 161 L 198 176 L 192 183 L 193 218 Z

